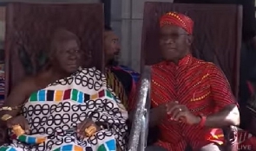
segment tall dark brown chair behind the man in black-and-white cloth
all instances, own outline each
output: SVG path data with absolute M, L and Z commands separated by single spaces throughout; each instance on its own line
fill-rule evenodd
M 47 59 L 49 39 L 56 28 L 78 35 L 85 52 L 84 66 L 103 71 L 103 7 L 95 4 L 11 3 L 6 11 L 5 94 L 25 76 L 35 74 Z M 3 128 L 4 129 L 4 128 Z M 1 129 L 1 132 L 5 130 Z M 1 134 L 4 140 L 5 133 Z

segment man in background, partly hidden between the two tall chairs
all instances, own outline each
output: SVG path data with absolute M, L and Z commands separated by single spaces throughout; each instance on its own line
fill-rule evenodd
M 129 100 L 135 94 L 140 74 L 128 66 L 119 65 L 119 39 L 113 29 L 108 26 L 105 26 L 104 31 L 104 51 L 108 85 L 115 91 L 116 96 L 121 99 L 121 103 L 128 108 Z

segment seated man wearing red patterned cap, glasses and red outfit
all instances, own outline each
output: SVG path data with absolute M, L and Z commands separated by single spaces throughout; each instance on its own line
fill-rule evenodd
M 190 53 L 194 22 L 169 12 L 161 16 L 164 61 L 152 66 L 150 127 L 161 133 L 146 150 L 221 150 L 221 128 L 240 124 L 240 113 L 220 68 Z

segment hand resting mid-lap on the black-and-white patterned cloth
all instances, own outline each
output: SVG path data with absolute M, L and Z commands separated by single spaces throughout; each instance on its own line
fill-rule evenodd
M 77 136 L 78 137 L 88 137 L 88 134 L 86 133 L 86 130 L 89 128 L 95 127 L 95 132 L 99 131 L 101 128 L 98 127 L 91 119 L 87 118 L 82 123 L 79 123 L 77 125 Z

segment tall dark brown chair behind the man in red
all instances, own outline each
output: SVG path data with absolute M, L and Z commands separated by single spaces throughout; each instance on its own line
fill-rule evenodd
M 141 66 L 161 60 L 158 32 L 159 19 L 168 11 L 177 11 L 194 20 L 194 46 L 196 58 L 220 66 L 238 97 L 242 11 L 236 5 L 207 5 L 183 3 L 145 3 L 141 43 Z M 235 142 L 235 128 L 226 128 L 226 150 Z M 234 147 L 235 148 L 235 147 Z

